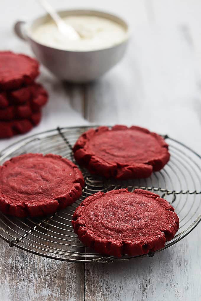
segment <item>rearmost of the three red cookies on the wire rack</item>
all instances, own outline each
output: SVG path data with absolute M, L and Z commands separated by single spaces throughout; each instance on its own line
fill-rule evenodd
M 75 160 L 91 173 L 117 179 L 149 177 L 170 158 L 164 139 L 138 126 L 90 129 L 73 151 Z

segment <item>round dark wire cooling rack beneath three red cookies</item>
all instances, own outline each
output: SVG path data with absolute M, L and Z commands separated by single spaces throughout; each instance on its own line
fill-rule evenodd
M 32 135 L 4 149 L 0 154 L 0 164 L 11 157 L 30 152 L 58 154 L 74 162 L 72 145 L 83 132 L 90 128 L 86 126 L 57 128 Z M 86 169 L 81 169 L 85 178 L 85 187 L 79 200 L 66 209 L 43 219 L 18 219 L 0 213 L 0 237 L 8 242 L 10 247 L 70 262 L 108 263 L 144 256 L 152 257 L 154 253 L 135 257 L 123 255 L 120 259 L 93 253 L 93 250 L 79 241 L 71 225 L 75 209 L 87 196 L 97 191 L 106 192 L 118 188 L 133 191 L 141 188 L 159 194 L 174 206 L 180 219 L 179 230 L 161 250 L 177 243 L 201 220 L 201 157 L 189 147 L 167 135 L 163 137 L 169 144 L 171 158 L 161 171 L 154 172 L 146 179 L 116 181 L 105 180 L 89 174 Z

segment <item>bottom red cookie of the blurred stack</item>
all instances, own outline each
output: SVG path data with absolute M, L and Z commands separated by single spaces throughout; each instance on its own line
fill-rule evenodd
M 41 112 L 32 113 L 29 119 L 0 121 L 0 138 L 10 138 L 14 135 L 25 134 L 33 129 L 41 119 Z

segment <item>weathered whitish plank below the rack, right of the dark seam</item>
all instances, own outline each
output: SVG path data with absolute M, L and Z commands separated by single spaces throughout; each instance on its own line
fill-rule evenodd
M 200 226 L 184 240 L 152 258 L 86 265 L 86 300 L 199 299 L 199 229 Z

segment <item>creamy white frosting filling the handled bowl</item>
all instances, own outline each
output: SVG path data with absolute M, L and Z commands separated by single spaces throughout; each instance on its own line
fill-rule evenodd
M 81 38 L 70 40 L 64 37 L 53 21 L 44 23 L 32 31 L 32 38 L 40 44 L 69 51 L 104 49 L 121 43 L 127 30 L 120 24 L 95 16 L 69 16 L 63 19 L 73 26 Z

